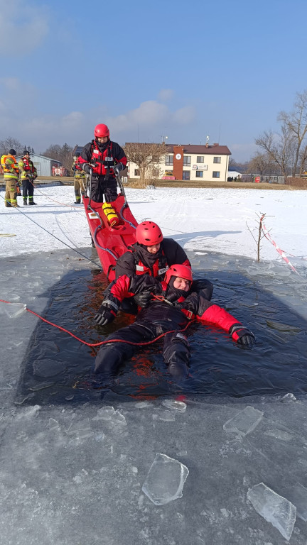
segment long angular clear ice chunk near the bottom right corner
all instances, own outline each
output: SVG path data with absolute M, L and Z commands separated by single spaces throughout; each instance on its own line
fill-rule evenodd
M 247 498 L 252 502 L 257 513 L 261 514 L 267 522 L 271 522 L 289 541 L 296 522 L 296 507 L 264 483 L 249 488 Z

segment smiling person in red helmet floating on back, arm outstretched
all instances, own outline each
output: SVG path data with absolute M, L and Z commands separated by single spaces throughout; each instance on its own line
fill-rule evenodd
M 153 294 L 148 307 L 141 309 L 134 324 L 107 336 L 95 360 L 95 375 L 115 375 L 124 360 L 131 358 L 137 343 L 153 341 L 166 334 L 163 342 L 163 360 L 168 372 L 176 380 L 188 375 L 190 347 L 182 331 L 192 319 L 214 324 L 227 331 L 232 339 L 246 348 L 252 348 L 254 334 L 234 316 L 213 304 L 203 291 L 192 292 L 193 276 L 185 265 L 171 265 L 163 282 L 149 275 L 122 276 L 112 285 L 107 299 L 95 315 L 97 324 L 104 326 L 114 320 L 124 297 L 150 290 Z M 118 342 L 120 341 L 120 342 Z M 132 341 L 136 345 L 125 341 Z

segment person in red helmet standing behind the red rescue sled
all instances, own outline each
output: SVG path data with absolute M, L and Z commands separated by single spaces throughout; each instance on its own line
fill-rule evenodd
M 115 172 L 126 167 L 124 150 L 109 139 L 109 128 L 103 123 L 95 126 L 95 139 L 82 149 L 78 164 L 87 174 L 92 169 L 90 198 L 95 202 L 113 202 L 117 199 Z

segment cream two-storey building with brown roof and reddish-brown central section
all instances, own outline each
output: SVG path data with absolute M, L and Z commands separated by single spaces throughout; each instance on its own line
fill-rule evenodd
M 230 150 L 227 145 L 167 145 L 169 153 L 159 164 L 152 165 L 153 177 L 160 180 L 227 181 Z M 139 168 L 128 163 L 128 176 L 139 178 Z

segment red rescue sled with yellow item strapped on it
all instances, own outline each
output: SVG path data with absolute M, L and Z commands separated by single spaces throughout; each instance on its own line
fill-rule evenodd
M 126 202 L 122 179 L 119 175 L 116 178 L 121 192 L 112 204 L 95 202 L 87 194 L 83 197 L 90 233 L 109 282 L 115 278 L 117 259 L 128 250 L 128 246 L 136 242 L 137 221 Z M 87 192 L 91 194 L 90 185 L 87 184 Z

